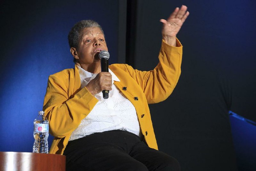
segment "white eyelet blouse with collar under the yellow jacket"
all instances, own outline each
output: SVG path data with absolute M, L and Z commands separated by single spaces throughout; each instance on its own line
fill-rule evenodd
M 78 67 L 81 87 L 86 86 L 97 74 L 85 71 Z M 72 132 L 69 141 L 82 138 L 95 132 L 110 130 L 125 130 L 140 136 L 140 125 L 136 110 L 132 103 L 113 84 L 120 81 L 109 69 L 112 75 L 112 90 L 109 91 L 108 99 L 102 97 L 102 93 L 95 95 L 99 101 L 92 111 L 81 121 L 80 125 Z

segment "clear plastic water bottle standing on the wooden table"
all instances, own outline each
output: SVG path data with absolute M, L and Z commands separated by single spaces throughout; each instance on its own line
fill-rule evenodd
M 44 111 L 39 111 L 34 120 L 33 153 L 48 153 L 49 122 L 44 117 Z

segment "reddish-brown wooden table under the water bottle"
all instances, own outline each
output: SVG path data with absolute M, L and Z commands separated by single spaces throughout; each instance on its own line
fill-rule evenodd
M 66 156 L 43 153 L 0 152 L 0 171 L 65 171 Z

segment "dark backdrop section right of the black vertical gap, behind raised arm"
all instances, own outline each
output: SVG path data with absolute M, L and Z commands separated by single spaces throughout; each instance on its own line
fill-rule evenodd
M 156 66 L 159 19 L 181 4 L 190 12 L 178 34 L 184 46 L 180 80 L 167 100 L 150 105 L 159 149 L 177 158 L 182 170 L 236 170 L 228 111 L 256 121 L 255 1 L 132 2 L 129 57 L 140 70 Z M 255 170 L 251 166 L 239 168 Z

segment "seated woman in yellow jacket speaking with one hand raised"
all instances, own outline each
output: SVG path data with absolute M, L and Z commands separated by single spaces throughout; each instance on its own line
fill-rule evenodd
M 165 100 L 180 76 L 182 46 L 176 34 L 187 7 L 161 19 L 162 47 L 152 71 L 113 64 L 101 72 L 99 52 L 108 50 L 101 26 L 83 20 L 68 35 L 75 68 L 50 75 L 45 115 L 54 136 L 50 153 L 67 156 L 67 170 L 180 170 L 157 150 L 148 103 Z M 109 98 L 102 90 L 110 90 Z

